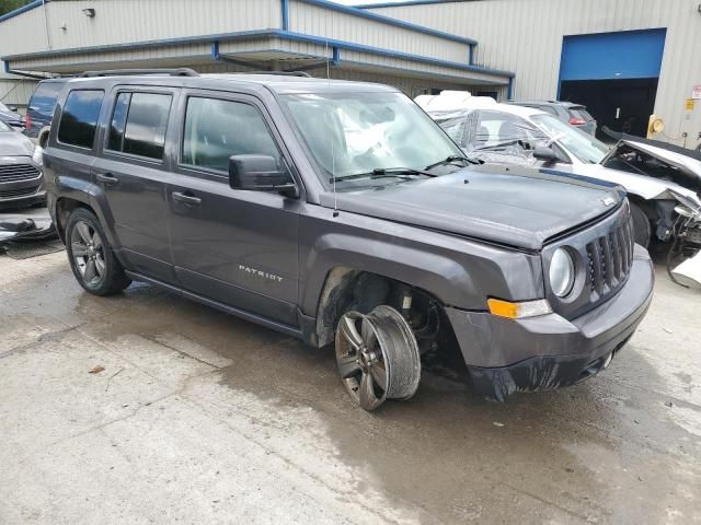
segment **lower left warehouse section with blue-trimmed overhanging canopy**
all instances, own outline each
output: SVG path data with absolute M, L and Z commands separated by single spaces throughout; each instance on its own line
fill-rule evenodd
M 153 67 L 306 70 L 412 96 L 440 89 L 507 96 L 513 73 L 475 66 L 476 47 L 467 36 L 324 0 L 36 0 L 0 18 L 0 100 L 26 104 L 16 73 Z

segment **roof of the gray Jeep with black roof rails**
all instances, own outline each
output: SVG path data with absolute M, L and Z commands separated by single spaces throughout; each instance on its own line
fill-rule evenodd
M 371 82 L 353 82 L 346 80 L 327 80 L 311 77 L 287 77 L 265 73 L 208 73 L 195 77 L 169 74 L 125 74 L 107 77 L 80 77 L 70 79 L 71 83 L 102 85 L 105 83 L 124 84 L 159 84 L 182 88 L 200 88 L 231 90 L 237 85 L 251 88 L 267 88 L 279 94 L 292 93 L 330 93 L 330 92 L 367 92 L 395 93 L 397 88 Z

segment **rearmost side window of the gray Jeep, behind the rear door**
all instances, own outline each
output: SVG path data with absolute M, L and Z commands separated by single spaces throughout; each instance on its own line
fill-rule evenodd
M 71 91 L 68 94 L 58 125 L 59 142 L 92 148 L 104 95 L 102 90 Z

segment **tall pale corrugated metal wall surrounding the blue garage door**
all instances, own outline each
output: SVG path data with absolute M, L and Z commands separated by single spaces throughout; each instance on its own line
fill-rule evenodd
M 563 35 L 666 27 L 655 113 L 668 140 L 701 131 L 701 101 L 685 102 L 701 84 L 699 0 L 482 0 L 382 8 L 372 11 L 475 38 L 481 66 L 516 72 L 515 97 L 558 93 Z M 612 50 L 614 52 L 614 50 Z M 677 140 L 674 140 L 677 139 Z M 687 144 L 688 145 L 688 144 Z

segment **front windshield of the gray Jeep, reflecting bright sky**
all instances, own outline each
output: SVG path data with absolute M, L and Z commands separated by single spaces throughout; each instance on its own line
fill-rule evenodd
M 401 93 L 284 95 L 324 184 L 395 167 L 424 170 L 460 149 Z

